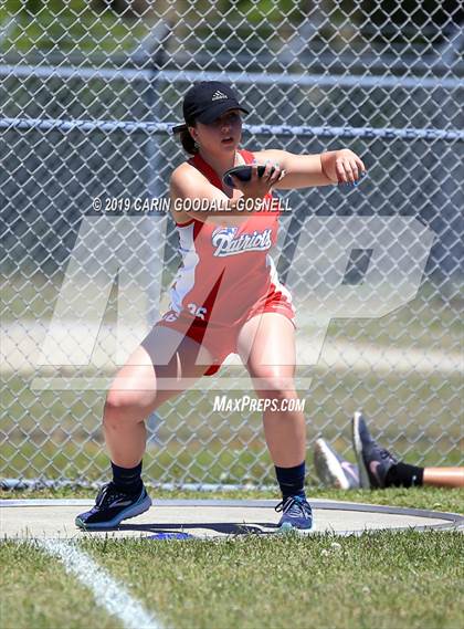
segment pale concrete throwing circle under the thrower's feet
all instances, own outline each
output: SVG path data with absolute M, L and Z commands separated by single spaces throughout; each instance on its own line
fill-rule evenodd
M 117 528 L 84 533 L 75 516 L 93 506 L 92 500 L 0 500 L 3 538 L 112 537 L 221 538 L 276 533 L 280 520 L 273 500 L 159 500 L 146 513 Z M 310 534 L 360 535 L 366 531 L 463 530 L 464 516 L 418 509 L 310 500 L 315 530 Z

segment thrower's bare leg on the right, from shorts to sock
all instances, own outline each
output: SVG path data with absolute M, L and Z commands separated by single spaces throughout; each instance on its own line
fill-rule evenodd
M 295 328 L 277 313 L 264 313 L 242 327 L 238 349 L 260 398 L 298 399 L 295 390 Z M 302 411 L 267 409 L 264 434 L 275 465 L 293 468 L 306 458 Z

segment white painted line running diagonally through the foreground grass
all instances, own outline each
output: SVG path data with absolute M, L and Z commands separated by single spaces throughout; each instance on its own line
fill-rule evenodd
M 61 559 L 66 572 L 92 590 L 95 601 L 118 618 L 126 629 L 161 629 L 154 616 L 146 611 L 122 584 L 104 568 L 98 567 L 75 544 L 60 539 L 38 539 L 36 543 L 46 553 Z

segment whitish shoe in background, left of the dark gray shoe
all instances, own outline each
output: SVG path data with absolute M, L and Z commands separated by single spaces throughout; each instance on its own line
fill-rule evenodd
M 314 445 L 314 466 L 326 488 L 357 490 L 361 486 L 358 465 L 346 461 L 324 439 L 317 439 Z

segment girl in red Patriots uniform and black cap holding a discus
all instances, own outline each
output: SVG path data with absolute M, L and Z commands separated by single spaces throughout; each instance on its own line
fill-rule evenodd
M 282 492 L 280 527 L 313 525 L 304 490 L 305 419 L 302 411 L 288 410 L 295 406 L 288 400 L 297 399 L 295 312 L 268 254 L 280 212 L 272 190 L 355 184 L 365 166 L 349 149 L 302 156 L 240 149 L 242 112 L 247 113 L 223 83 L 198 83 L 186 94 L 184 124 L 173 130 L 190 159 L 170 181 L 182 263 L 169 311 L 108 391 L 103 427 L 113 481 L 101 489 L 95 506 L 76 517 L 82 528 L 116 526 L 150 507 L 140 475 L 145 419 L 194 380 L 218 371 L 231 353 L 241 356 L 264 400 L 264 433 Z M 243 164 L 252 167 L 251 180 L 234 177 L 233 188 L 223 185 L 224 172 Z M 257 165 L 266 165 L 261 177 Z

